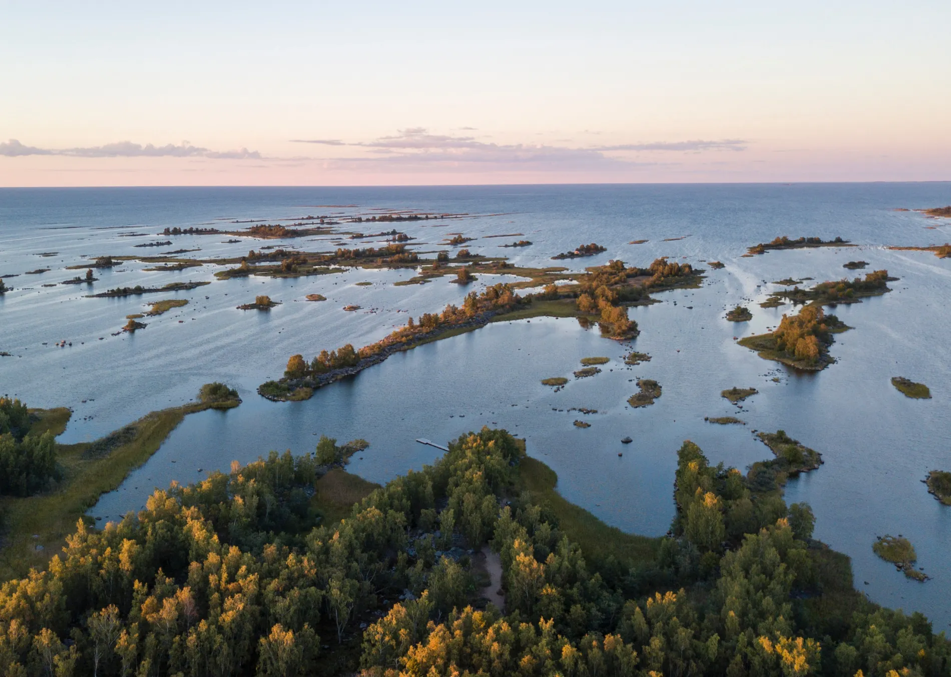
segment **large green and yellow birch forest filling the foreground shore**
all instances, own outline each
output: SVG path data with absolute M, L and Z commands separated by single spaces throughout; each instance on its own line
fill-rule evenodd
M 949 674 L 943 634 L 855 591 L 808 506 L 691 442 L 677 455 L 670 535 L 640 558 L 586 557 L 501 430 L 460 436 L 339 522 L 314 507 L 315 455 L 234 463 L 102 531 L 80 521 L 47 571 L 5 583 L 0 671 Z M 483 548 L 504 611 L 478 591 Z

